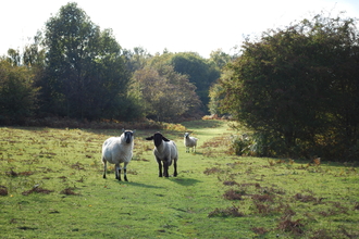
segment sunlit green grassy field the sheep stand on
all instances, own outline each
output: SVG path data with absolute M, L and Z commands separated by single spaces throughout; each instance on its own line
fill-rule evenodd
M 0 128 L 0 238 L 359 238 L 357 165 L 235 156 L 226 122 L 183 125 L 196 153 L 161 130 L 178 177 L 158 177 L 154 130 L 137 129 L 128 183 L 102 178 L 120 130 Z

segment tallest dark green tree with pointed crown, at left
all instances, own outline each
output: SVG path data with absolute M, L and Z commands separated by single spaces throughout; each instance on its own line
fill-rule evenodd
M 77 118 L 125 118 L 129 74 L 111 29 L 100 30 L 76 3 L 46 23 L 42 111 Z

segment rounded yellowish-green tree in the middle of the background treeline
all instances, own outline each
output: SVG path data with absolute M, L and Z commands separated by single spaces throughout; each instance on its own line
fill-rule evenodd
M 135 90 L 140 92 L 146 115 L 157 121 L 173 121 L 199 106 L 196 87 L 171 65 L 145 67 L 134 74 Z

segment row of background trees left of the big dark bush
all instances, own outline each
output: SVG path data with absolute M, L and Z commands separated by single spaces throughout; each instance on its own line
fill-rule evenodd
M 121 39 L 120 39 L 121 40 Z M 0 59 L 0 124 L 28 117 L 178 121 L 208 111 L 209 88 L 230 55 L 149 54 L 121 48 L 69 3 L 20 52 Z

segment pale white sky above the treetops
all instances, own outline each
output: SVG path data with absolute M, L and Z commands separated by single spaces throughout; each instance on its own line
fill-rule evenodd
M 22 50 L 67 2 L 77 2 L 101 29 L 112 28 L 122 48 L 195 51 L 203 58 L 216 49 L 233 53 L 243 36 L 321 12 L 359 17 L 359 0 L 1 0 L 0 55 L 9 48 Z

